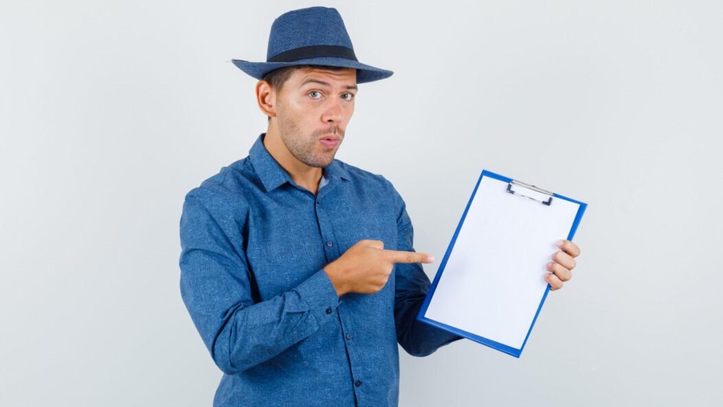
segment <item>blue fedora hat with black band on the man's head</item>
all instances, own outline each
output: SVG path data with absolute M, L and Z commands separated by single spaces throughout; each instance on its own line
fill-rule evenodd
M 308 7 L 281 14 L 271 25 L 265 62 L 231 61 L 259 80 L 274 69 L 293 65 L 354 68 L 357 83 L 385 79 L 394 73 L 356 59 L 341 14 L 330 7 Z

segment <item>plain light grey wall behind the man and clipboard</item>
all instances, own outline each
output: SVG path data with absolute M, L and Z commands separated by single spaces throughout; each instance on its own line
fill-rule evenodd
M 1 2 L 2 406 L 210 405 L 182 200 L 266 128 L 228 61 L 318 4 Z M 482 168 L 589 203 L 521 359 L 402 354 L 401 406 L 723 403 L 719 1 L 324 5 L 395 72 L 337 158 L 395 184 L 418 251 L 441 259 Z

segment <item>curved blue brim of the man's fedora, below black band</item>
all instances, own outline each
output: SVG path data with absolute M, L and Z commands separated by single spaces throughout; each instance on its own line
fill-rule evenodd
M 335 56 L 320 56 L 316 58 L 299 59 L 291 62 L 251 62 L 242 59 L 231 59 L 231 61 L 252 77 L 260 80 L 268 72 L 283 67 L 292 67 L 294 65 L 326 65 L 329 67 L 345 67 L 356 69 L 356 83 L 372 82 L 382 80 L 392 76 L 394 72 L 387 69 L 372 67 L 371 65 L 362 64 L 353 59 L 338 58 Z

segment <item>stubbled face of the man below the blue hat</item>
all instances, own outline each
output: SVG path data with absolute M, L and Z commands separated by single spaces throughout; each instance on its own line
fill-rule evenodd
M 328 166 L 354 113 L 356 70 L 301 68 L 276 94 L 276 120 L 281 140 L 297 160 Z

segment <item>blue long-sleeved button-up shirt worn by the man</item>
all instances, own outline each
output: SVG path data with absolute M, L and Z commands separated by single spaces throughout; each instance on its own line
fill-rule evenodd
M 430 285 L 419 263 L 341 298 L 323 267 L 361 239 L 414 251 L 404 201 L 341 160 L 315 195 L 263 137 L 188 192 L 181 215 L 181 297 L 224 373 L 213 405 L 397 406 L 397 343 L 426 356 L 461 337 L 416 320 Z

